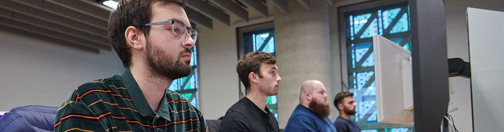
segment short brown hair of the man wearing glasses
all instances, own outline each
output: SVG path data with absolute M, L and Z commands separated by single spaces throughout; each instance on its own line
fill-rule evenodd
M 162 5 L 176 3 L 186 6 L 185 0 L 122 0 L 116 10 L 110 13 L 108 19 L 108 37 L 124 67 L 131 65 L 131 51 L 126 44 L 124 32 L 129 26 L 135 26 L 145 36 L 149 35 L 149 26 L 138 26 L 149 23 L 152 17 L 152 5 L 162 2 Z

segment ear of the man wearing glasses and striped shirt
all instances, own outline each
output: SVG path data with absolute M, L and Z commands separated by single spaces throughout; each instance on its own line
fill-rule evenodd
M 138 31 L 133 26 L 130 26 L 124 32 L 126 37 L 126 44 L 134 49 L 141 50 L 144 48 L 143 42 L 145 41 L 145 36 L 142 32 Z

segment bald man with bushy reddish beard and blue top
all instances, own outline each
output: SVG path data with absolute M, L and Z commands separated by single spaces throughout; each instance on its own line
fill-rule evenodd
M 329 116 L 325 86 L 317 80 L 307 80 L 301 86 L 299 104 L 292 112 L 284 131 L 336 131 Z

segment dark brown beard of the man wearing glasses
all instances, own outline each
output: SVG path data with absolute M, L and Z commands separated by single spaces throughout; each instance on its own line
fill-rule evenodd
M 185 77 L 191 73 L 191 61 L 186 61 L 184 63 L 180 62 L 182 54 L 191 53 L 189 48 L 181 51 L 178 58 L 173 58 L 167 55 L 163 50 L 153 45 L 149 40 L 145 47 L 146 61 L 148 69 L 153 76 L 165 77 L 169 80 L 175 80 L 177 78 Z

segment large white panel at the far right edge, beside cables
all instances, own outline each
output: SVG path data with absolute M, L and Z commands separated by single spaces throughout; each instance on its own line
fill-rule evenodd
M 502 3 L 502 2 L 500 2 Z M 474 131 L 504 130 L 504 12 L 467 8 Z M 457 103 L 457 102 L 456 102 Z M 471 102 L 458 102 L 471 105 Z M 455 117 L 455 115 L 454 115 Z M 455 117 L 457 118 L 457 117 Z M 459 118 L 460 120 L 460 118 Z M 462 119 L 467 120 L 467 119 Z M 459 121 L 457 121 L 459 122 Z

